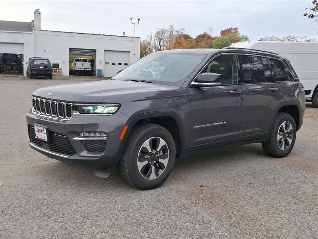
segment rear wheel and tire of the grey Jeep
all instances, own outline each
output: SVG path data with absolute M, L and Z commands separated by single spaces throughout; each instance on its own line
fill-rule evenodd
M 262 143 L 262 147 L 267 155 L 282 158 L 292 151 L 295 140 L 296 123 L 294 118 L 290 114 L 279 112 L 269 138 L 267 142 Z

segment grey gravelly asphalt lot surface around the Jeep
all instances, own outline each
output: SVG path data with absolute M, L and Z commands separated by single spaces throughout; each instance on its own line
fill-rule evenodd
M 286 158 L 260 144 L 178 160 L 163 186 L 139 191 L 117 173 L 49 159 L 28 146 L 37 88 L 95 80 L 0 79 L 0 238 L 318 238 L 318 109 L 307 105 Z

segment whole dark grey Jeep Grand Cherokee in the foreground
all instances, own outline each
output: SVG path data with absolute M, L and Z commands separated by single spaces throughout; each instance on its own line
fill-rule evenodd
M 154 70 L 156 69 L 156 70 Z M 57 160 L 117 166 L 130 185 L 161 185 L 176 157 L 262 143 L 285 157 L 303 123 L 305 94 L 289 61 L 251 49 L 150 54 L 110 80 L 33 93 L 30 146 Z

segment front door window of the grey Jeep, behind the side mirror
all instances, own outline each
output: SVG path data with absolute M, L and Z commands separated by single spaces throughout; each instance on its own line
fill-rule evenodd
M 222 76 L 222 85 L 238 83 L 238 68 L 235 55 L 221 55 L 216 57 L 202 73 L 204 72 L 220 74 Z

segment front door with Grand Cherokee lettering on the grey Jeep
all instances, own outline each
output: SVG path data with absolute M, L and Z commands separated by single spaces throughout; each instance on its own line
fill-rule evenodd
M 221 85 L 193 88 L 191 97 L 191 146 L 219 141 L 239 141 L 243 85 L 234 54 L 215 57 L 203 72 L 222 75 Z M 203 73 L 202 72 L 202 73 Z M 207 145 L 208 146 L 208 145 Z

